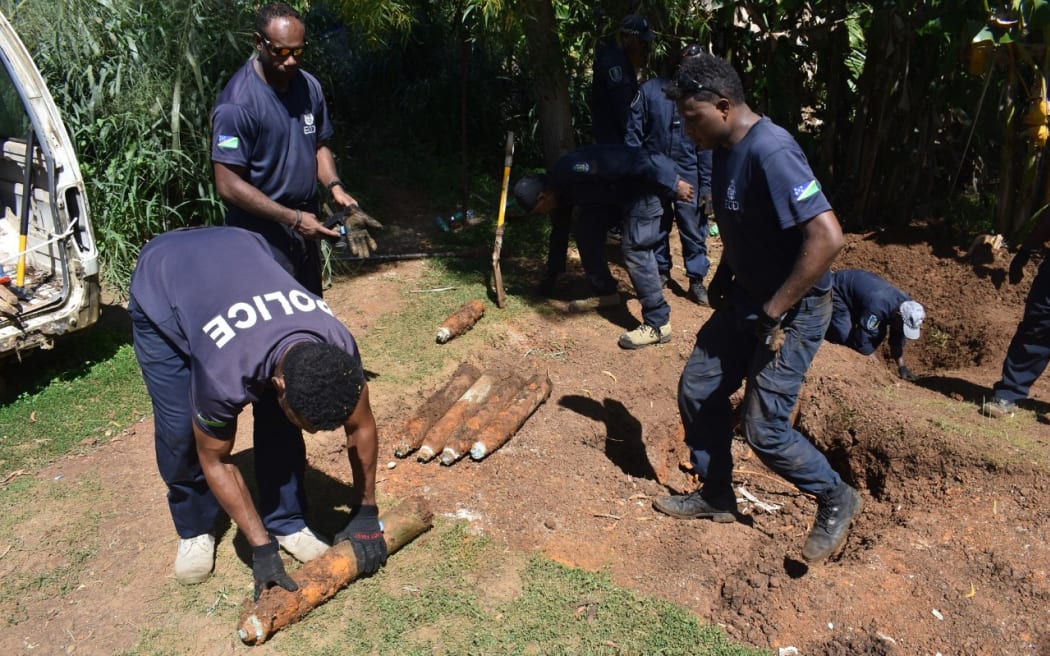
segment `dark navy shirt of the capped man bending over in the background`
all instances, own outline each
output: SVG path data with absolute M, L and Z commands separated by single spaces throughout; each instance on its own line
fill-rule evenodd
M 674 163 L 655 152 L 623 144 L 571 150 L 548 172 L 560 205 L 625 207 L 642 194 L 671 198 L 678 179 Z

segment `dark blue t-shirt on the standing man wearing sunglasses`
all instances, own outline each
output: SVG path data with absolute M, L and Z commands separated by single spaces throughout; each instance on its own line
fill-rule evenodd
M 252 187 L 285 207 L 315 211 L 317 148 L 333 133 L 316 78 L 299 70 L 278 93 L 255 71 L 252 58 L 219 94 L 211 127 L 213 162 L 244 167 Z M 233 206 L 226 223 L 264 234 L 284 230 Z

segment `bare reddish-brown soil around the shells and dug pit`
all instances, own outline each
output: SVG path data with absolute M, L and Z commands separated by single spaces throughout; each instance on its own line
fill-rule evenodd
M 425 224 L 424 212 L 404 215 Z M 394 234 L 387 252 L 414 236 L 411 228 Z M 757 647 L 794 646 L 805 656 L 1048 654 L 1050 426 L 1043 418 L 1050 410 L 1050 381 L 1035 385 L 1015 418 L 995 421 L 976 411 L 999 377 L 1034 264 L 1025 283 L 1010 287 L 1004 282 L 1008 253 L 974 259 L 932 234 L 849 234 L 836 262 L 884 275 L 921 301 L 928 318 L 922 338 L 906 350 L 918 382 L 898 379 L 885 353 L 872 359 L 832 344 L 821 347 L 806 379 L 798 426 L 865 502 L 845 549 L 826 564 L 807 567 L 800 556 L 814 500 L 762 467 L 740 441 L 741 498 L 746 490 L 777 509 L 746 501 L 743 521 L 714 524 L 651 508 L 653 498 L 696 484 L 681 466 L 688 457 L 675 389 L 692 337 L 710 311 L 685 297 L 680 267 L 668 293 L 674 338 L 637 352 L 616 346 L 620 334 L 637 322 L 633 298 L 625 308 L 590 314 L 537 306 L 512 320 L 489 303 L 482 321 L 499 322 L 499 337 L 485 339 L 477 329 L 458 337 L 475 340 L 469 361 L 481 369 L 544 371 L 553 383 L 550 398 L 480 462 L 444 467 L 399 460 L 393 454 L 398 436 L 383 432 L 380 495 L 422 495 L 436 514 L 470 517 L 507 549 L 605 568 L 616 583 L 688 608 Z M 713 239 L 715 257 L 719 247 Z M 405 251 L 423 248 L 416 242 Z M 524 266 L 504 262 L 505 279 L 516 264 Z M 397 311 L 404 299 L 397 285 L 418 279 L 424 266 L 418 259 L 384 262 L 338 280 L 327 298 L 363 336 L 377 316 Z M 618 266 L 615 273 L 629 290 Z M 369 368 L 368 353 L 364 358 Z M 403 422 L 457 364 L 418 389 L 395 388 L 382 372 L 370 369 L 381 431 Z M 336 433 L 319 436 L 310 442 L 310 459 L 316 469 L 345 480 L 340 442 Z M 387 469 L 388 462 L 396 466 Z M 97 508 L 100 530 L 112 532 L 113 548 L 93 556 L 99 576 L 83 589 L 61 601 L 19 608 L 17 626 L 0 632 L 3 653 L 66 653 L 70 647 L 77 654 L 111 653 L 126 649 L 144 626 L 172 621 L 151 610 L 169 606 L 156 604 L 156 579 L 170 575 L 174 537 L 148 421 L 36 475 L 47 481 L 60 474 L 69 485 L 93 477 L 97 485 L 122 491 L 121 503 Z M 34 550 L 46 538 L 54 544 L 64 512 L 41 508 L 18 536 L 0 539 L 15 546 L 0 559 L 0 575 L 40 558 L 67 557 Z M 113 598 L 104 578 L 122 581 L 127 593 Z M 198 614 L 176 621 L 186 623 L 186 653 L 234 651 L 225 623 Z

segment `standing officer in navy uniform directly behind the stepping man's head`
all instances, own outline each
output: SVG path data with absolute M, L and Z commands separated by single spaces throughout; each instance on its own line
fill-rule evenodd
M 679 60 L 696 57 L 702 51 L 699 45 L 690 45 L 682 50 Z M 711 268 L 711 260 L 708 259 L 708 218 L 705 205 L 711 195 L 711 151 L 698 148 L 686 135 L 674 102 L 664 93 L 664 88 L 670 83 L 670 77 L 662 76 L 646 81 L 638 88 L 631 102 L 624 143 L 671 157 L 678 175 L 697 185 L 698 190 L 692 200 L 670 202 L 665 206 L 662 221 L 665 235 L 656 249 L 656 260 L 660 279 L 667 284 L 671 276 L 669 236 L 671 224 L 676 224 L 686 275 L 689 277 L 689 296 L 695 302 L 707 305 L 708 291 L 704 287 L 704 277 Z

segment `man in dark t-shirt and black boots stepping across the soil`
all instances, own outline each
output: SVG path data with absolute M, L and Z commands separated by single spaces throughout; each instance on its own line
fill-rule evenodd
M 730 395 L 746 379 L 744 436 L 765 466 L 817 498 L 802 556 L 821 560 L 845 543 L 862 501 L 790 417 L 832 318 L 830 267 L 842 230 L 801 148 L 748 106 L 726 60 L 687 59 L 666 92 L 687 134 L 714 151 L 711 187 L 723 252 L 708 285 L 715 311 L 678 381 L 686 442 L 704 483 L 653 506 L 674 517 L 733 521 Z

